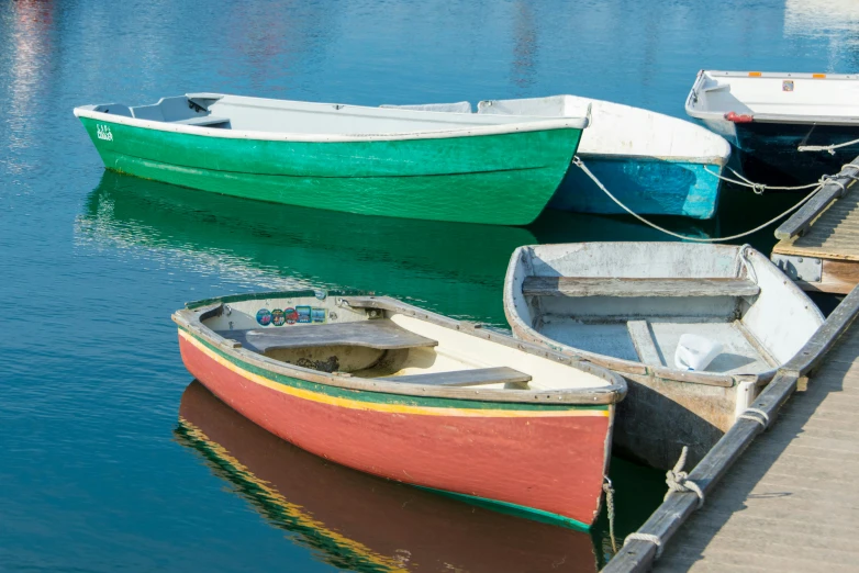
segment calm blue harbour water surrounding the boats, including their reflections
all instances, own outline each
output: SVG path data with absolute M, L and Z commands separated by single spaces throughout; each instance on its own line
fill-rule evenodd
M 104 175 L 75 105 L 188 91 L 367 104 L 572 92 L 682 115 L 699 68 L 856 71 L 856 5 L 2 3 L 0 570 L 593 571 L 604 520 L 583 538 L 426 498 L 270 443 L 199 389 L 182 400 L 191 380 L 169 316 L 188 300 L 312 284 L 503 324 L 515 246 L 661 238 L 625 217 L 547 213 L 476 231 Z M 730 191 L 715 222 L 661 223 L 727 234 L 794 200 Z M 622 460 L 613 476 L 623 535 L 663 485 Z

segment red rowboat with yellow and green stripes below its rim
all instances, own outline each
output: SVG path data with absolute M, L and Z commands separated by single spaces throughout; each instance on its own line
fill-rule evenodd
M 388 297 L 243 294 L 172 318 L 188 370 L 300 448 L 571 526 L 599 513 L 616 374 Z

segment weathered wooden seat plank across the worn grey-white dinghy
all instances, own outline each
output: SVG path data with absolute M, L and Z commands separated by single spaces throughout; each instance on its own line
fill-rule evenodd
M 748 279 L 632 279 L 527 277 L 526 296 L 755 296 L 760 286 Z

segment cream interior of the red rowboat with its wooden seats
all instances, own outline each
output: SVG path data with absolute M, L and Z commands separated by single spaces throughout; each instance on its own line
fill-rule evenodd
M 324 373 L 435 386 L 567 390 L 612 382 L 475 336 L 459 324 L 378 308 L 375 299 L 244 300 L 201 308 L 202 325 L 267 358 Z M 378 301 L 378 299 L 376 299 Z

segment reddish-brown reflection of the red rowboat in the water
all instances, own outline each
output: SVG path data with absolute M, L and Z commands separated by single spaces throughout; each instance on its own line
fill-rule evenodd
M 175 430 L 271 525 L 354 571 L 596 571 L 588 533 L 360 473 L 268 434 L 194 381 Z

